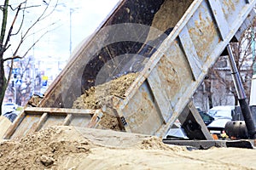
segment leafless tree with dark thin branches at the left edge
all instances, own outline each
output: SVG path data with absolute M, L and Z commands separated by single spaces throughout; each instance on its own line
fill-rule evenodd
M 2 103 L 6 88 L 8 87 L 10 78 L 11 78 L 11 71 L 14 65 L 14 59 L 23 59 L 26 54 L 36 45 L 36 43 L 44 37 L 44 35 L 49 32 L 48 26 L 45 26 L 43 29 L 34 31 L 34 27 L 38 25 L 42 20 L 46 19 L 50 14 L 53 13 L 55 7 L 58 4 L 56 0 L 54 5 L 51 6 L 50 4 L 52 0 L 49 0 L 48 3 L 45 1 L 42 4 L 29 4 L 27 0 L 24 0 L 21 3 L 10 4 L 9 0 L 4 0 L 3 4 L 0 4 L 0 9 L 2 12 L 2 27 L 1 27 L 1 37 L 0 37 L 0 114 L 2 114 Z M 29 9 L 31 8 L 38 8 L 42 10 L 42 13 L 39 14 L 35 19 L 29 23 L 25 23 L 26 13 L 28 13 Z M 14 14 L 14 17 L 11 19 L 9 24 L 9 14 Z M 51 23 L 49 26 L 54 25 L 55 23 Z M 8 28 L 9 26 L 9 28 Z M 38 34 L 37 40 L 34 42 L 27 41 L 29 37 L 34 35 L 35 33 Z M 11 42 L 11 38 L 19 37 L 18 43 L 15 44 Z M 25 52 L 22 54 L 20 53 L 20 49 L 23 48 L 22 45 L 30 43 L 28 48 L 26 48 Z M 9 55 L 10 46 L 12 45 L 13 50 L 11 55 Z M 13 47 L 15 45 L 15 47 Z M 6 56 L 9 55 L 9 56 Z M 11 61 L 9 67 L 9 72 L 7 74 L 7 78 L 5 77 L 4 72 L 4 62 Z

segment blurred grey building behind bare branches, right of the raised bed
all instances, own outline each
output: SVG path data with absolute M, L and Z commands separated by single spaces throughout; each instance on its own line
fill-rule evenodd
M 193 101 L 196 107 L 201 108 L 202 111 L 208 111 L 210 102 L 212 106 L 218 105 L 235 105 L 236 89 L 231 77 L 230 63 L 228 56 L 221 56 L 215 65 L 212 67 L 212 72 L 207 74 L 207 77 L 201 85 L 196 89 L 193 96 Z M 247 99 L 250 97 L 251 77 L 253 70 L 250 65 L 243 65 L 240 71 L 241 78 L 246 82 L 243 88 L 247 93 Z

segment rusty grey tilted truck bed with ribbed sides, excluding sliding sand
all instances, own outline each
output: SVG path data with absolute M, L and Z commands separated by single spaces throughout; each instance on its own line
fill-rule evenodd
M 102 115 L 117 116 L 120 130 L 164 137 L 231 38 L 236 32 L 241 35 L 243 22 L 253 21 L 250 12 L 255 3 L 256 0 L 120 1 L 74 54 L 38 107 L 27 107 L 4 138 L 19 138 L 58 124 L 49 121 L 49 117 L 62 117 L 59 124 L 88 127 L 90 123 L 89 127 L 98 127 Z M 95 110 L 86 110 L 87 116 L 80 116 L 86 119 L 86 125 L 71 123 L 76 116 L 68 115 L 83 112 L 70 109 L 73 101 L 84 89 L 95 85 L 104 64 L 128 53 L 137 54 L 142 44 L 150 40 L 152 30 L 159 36 L 171 27 L 172 32 L 160 44 L 153 45 L 154 54 L 144 60 L 143 69 L 123 97 L 113 95 L 112 105 L 97 110 L 99 115 Z M 129 63 L 129 59 L 124 57 L 117 62 Z M 54 114 L 49 108 L 55 110 Z M 63 108 L 67 114 L 61 112 Z M 29 118 L 33 121 L 27 121 Z

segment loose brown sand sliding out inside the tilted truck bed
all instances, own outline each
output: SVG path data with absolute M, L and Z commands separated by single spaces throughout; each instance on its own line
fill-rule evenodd
M 125 99 L 125 92 L 134 82 L 138 73 L 129 73 L 122 77 L 91 87 L 73 102 L 76 109 L 102 109 L 103 106 L 112 107 L 112 97 Z M 119 121 L 116 116 L 105 113 L 98 124 L 98 128 L 113 129 L 119 131 Z

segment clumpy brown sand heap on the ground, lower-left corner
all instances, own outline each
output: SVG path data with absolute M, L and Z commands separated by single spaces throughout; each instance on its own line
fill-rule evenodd
M 49 127 L 17 141 L 3 141 L 0 145 L 1 169 L 55 167 L 63 156 L 90 152 L 90 142 L 72 127 Z

